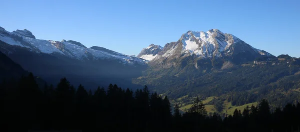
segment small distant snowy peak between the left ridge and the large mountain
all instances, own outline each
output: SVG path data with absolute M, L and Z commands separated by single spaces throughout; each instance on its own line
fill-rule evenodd
M 150 44 L 148 47 L 143 48 L 137 57 L 150 61 L 154 59 L 160 51 L 162 51 L 162 48 L 163 47 L 159 45 Z

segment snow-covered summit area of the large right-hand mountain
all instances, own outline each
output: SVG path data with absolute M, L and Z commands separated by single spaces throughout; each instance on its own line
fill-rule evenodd
M 230 45 L 244 43 L 234 35 L 223 33 L 218 29 L 210 29 L 206 32 L 187 31 L 182 34 L 179 41 L 182 43 L 182 50 L 187 50 L 191 55 L 195 54 L 201 58 L 221 57 L 222 52 Z

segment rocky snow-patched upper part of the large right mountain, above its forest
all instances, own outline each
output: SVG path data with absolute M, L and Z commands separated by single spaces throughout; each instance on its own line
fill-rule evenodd
M 147 48 L 144 48 L 141 53 L 149 51 Z M 138 57 L 144 57 L 142 55 L 147 54 L 141 54 Z M 232 34 L 223 33 L 218 29 L 210 29 L 206 32 L 187 31 L 181 35 L 178 41 L 165 44 L 161 51 L 148 60 L 151 60 L 153 64 L 166 62 L 165 59 L 173 60 L 188 56 L 196 59 L 226 58 L 244 62 L 256 57 L 271 57 L 272 55 L 253 48 Z

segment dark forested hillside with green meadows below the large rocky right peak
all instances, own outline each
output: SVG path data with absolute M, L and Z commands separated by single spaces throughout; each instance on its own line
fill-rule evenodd
M 183 69 L 152 67 L 143 73 L 144 76 L 133 79 L 133 83 L 148 84 L 151 90 L 168 95 L 182 110 L 188 109 L 196 96 L 202 100 L 217 97 L 207 105 L 213 105 L 213 110 L 220 114 L 227 110 L 226 103 L 238 107 L 266 99 L 274 110 L 300 101 L 298 58 L 280 55 L 271 59 L 256 58 L 240 65 L 220 63 L 219 66 L 212 66 L 209 60 L 200 60 L 198 69 L 190 60 L 186 61 Z

